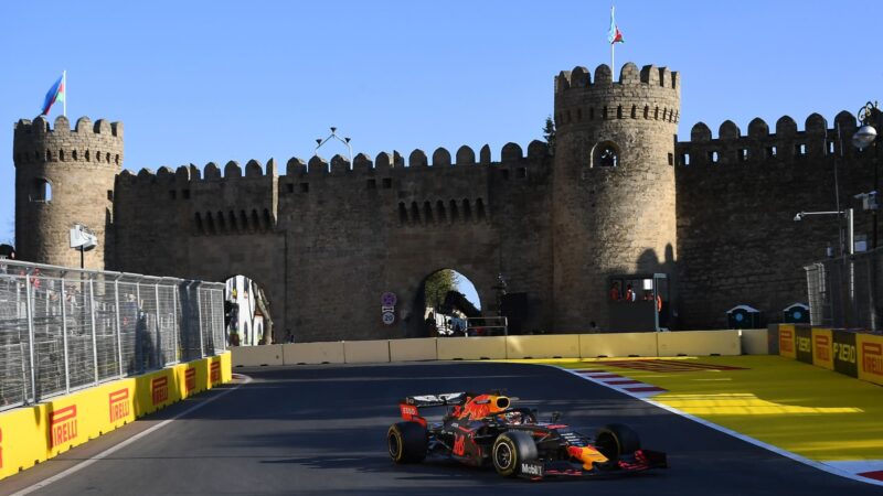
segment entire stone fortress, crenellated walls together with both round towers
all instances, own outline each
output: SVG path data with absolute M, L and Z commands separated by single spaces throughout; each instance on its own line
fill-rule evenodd
M 872 188 L 869 153 L 810 116 L 804 131 L 783 117 L 770 133 L 732 122 L 713 138 L 693 127 L 679 141 L 680 76 L 626 64 L 555 78 L 554 154 L 509 143 L 499 162 L 486 145 L 454 155 L 360 153 L 348 163 L 291 159 L 280 171 L 249 161 L 123 170 L 123 125 L 43 117 L 15 126 L 15 237 L 20 258 L 78 266 L 67 247 L 74 223 L 98 249 L 87 268 L 222 281 L 244 274 L 270 301 L 274 338 L 373 339 L 424 335 L 422 288 L 438 269 L 472 281 L 486 311 L 502 273 L 526 294 L 525 331 L 609 328 L 607 278 L 663 272 L 672 281 L 675 328 L 716 328 L 749 304 L 775 322 L 806 302 L 802 266 L 836 241 L 823 218 Z M 842 149 L 842 157 L 841 157 Z M 407 162 L 407 165 L 405 165 Z M 42 198 L 47 183 L 51 200 Z M 843 200 L 845 202 L 845 200 Z M 859 215 L 857 233 L 870 233 Z M 397 296 L 396 322 L 381 322 L 381 295 Z

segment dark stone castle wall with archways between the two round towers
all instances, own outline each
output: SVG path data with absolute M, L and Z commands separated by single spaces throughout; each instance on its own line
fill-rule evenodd
M 551 287 L 549 157 L 509 144 L 503 161 L 468 148 L 354 165 L 336 157 L 291 159 L 285 175 L 256 161 L 124 172 L 117 181 L 118 270 L 224 280 L 236 273 L 270 301 L 275 339 L 362 339 L 423 335 L 426 277 L 451 268 L 476 285 L 485 309 L 503 273 L 545 328 Z M 451 163 L 454 162 L 454 163 Z M 174 192 L 174 193 L 172 193 Z M 381 322 L 381 295 L 397 294 L 397 322 Z

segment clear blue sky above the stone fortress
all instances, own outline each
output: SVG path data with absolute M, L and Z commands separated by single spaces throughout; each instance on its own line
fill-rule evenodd
M 552 80 L 609 64 L 609 2 L 151 1 L 0 6 L 0 241 L 13 236 L 12 125 L 63 69 L 67 115 L 121 120 L 127 169 L 309 159 L 541 137 Z M 679 134 L 783 115 L 800 129 L 881 99 L 883 2 L 618 1 L 616 71 L 679 71 Z M 51 118 L 61 111 L 53 109 Z M 322 155 L 344 153 L 331 144 Z

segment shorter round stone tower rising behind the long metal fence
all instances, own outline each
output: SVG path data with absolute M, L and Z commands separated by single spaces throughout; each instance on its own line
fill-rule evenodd
M 98 247 L 85 254 L 85 267 L 104 269 L 114 240 L 114 183 L 123 170 L 123 123 L 83 117 L 74 129 L 57 117 L 50 129 L 41 116 L 15 123 L 15 244 L 20 259 L 79 267 L 70 248 L 70 229 L 88 227 Z

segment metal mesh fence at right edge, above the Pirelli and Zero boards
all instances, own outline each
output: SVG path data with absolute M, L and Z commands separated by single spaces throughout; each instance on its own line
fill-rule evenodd
M 812 325 L 877 331 L 883 248 L 804 267 Z

